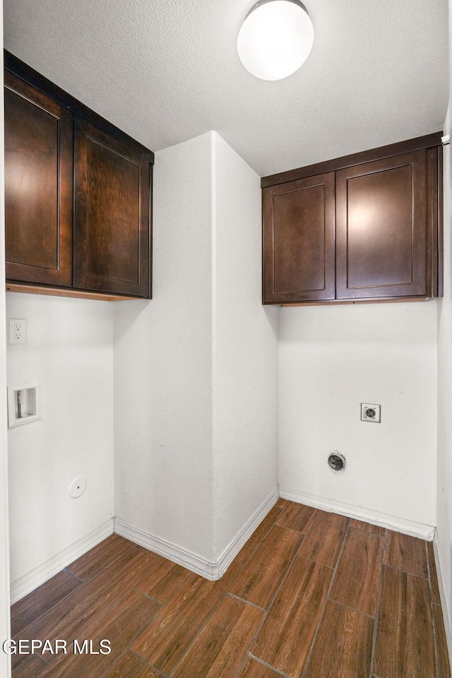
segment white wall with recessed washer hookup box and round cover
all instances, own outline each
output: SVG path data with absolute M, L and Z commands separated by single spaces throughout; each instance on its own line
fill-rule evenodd
M 113 308 L 8 293 L 26 345 L 8 345 L 8 384 L 40 381 L 42 421 L 8 432 L 11 581 L 113 515 Z M 85 493 L 71 499 L 71 480 Z

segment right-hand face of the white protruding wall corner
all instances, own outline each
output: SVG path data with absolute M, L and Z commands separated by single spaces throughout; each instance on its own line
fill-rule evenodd
M 215 557 L 278 486 L 278 315 L 261 304 L 261 184 L 214 149 Z

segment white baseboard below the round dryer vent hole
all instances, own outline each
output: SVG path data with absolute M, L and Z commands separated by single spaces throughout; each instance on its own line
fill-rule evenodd
M 329 511 L 330 513 L 340 513 L 341 516 L 356 518 L 358 521 L 365 521 L 372 525 L 379 525 L 381 528 L 388 528 L 389 530 L 411 535 L 412 537 L 420 537 L 420 539 L 427 540 L 428 542 L 432 542 L 434 538 L 435 528 L 432 525 L 415 523 L 405 518 L 398 518 L 398 516 L 390 516 L 387 513 L 364 509 L 362 506 L 355 506 L 354 504 L 345 504 L 344 501 L 328 499 L 326 496 L 310 494 L 309 492 L 295 492 L 285 487 L 280 487 L 280 496 L 283 499 L 297 501 L 298 504 L 307 504 L 307 506 L 314 506 L 316 509 L 323 509 L 323 511 Z

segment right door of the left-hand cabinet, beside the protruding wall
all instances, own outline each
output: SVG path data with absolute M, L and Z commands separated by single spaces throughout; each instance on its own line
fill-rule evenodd
M 74 287 L 150 297 L 150 163 L 76 117 Z

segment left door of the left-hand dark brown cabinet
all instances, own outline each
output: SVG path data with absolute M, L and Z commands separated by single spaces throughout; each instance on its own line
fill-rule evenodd
M 5 71 L 6 278 L 72 285 L 73 116 Z

